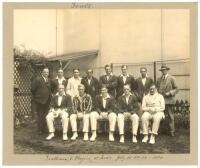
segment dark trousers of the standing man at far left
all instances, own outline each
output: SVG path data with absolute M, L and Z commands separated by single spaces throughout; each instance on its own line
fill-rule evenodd
M 42 133 L 48 132 L 46 124 L 46 115 L 49 109 L 49 101 L 46 104 L 36 102 L 38 131 Z

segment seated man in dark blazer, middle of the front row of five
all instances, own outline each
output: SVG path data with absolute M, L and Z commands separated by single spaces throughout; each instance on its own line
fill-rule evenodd
M 115 99 L 108 94 L 106 86 L 102 86 L 101 94 L 96 97 L 95 111 L 90 113 L 90 123 L 92 136 L 90 141 L 95 141 L 97 134 L 97 120 L 108 119 L 109 120 L 109 141 L 114 141 L 115 124 L 117 115 L 115 112 Z

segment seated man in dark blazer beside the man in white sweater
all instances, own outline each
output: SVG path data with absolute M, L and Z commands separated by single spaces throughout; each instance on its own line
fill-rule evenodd
M 134 93 L 131 93 L 130 85 L 124 85 L 124 94 L 117 101 L 117 123 L 119 127 L 120 142 L 124 143 L 124 122 L 130 119 L 132 122 L 132 142 L 137 143 L 137 131 L 139 126 L 139 105 Z

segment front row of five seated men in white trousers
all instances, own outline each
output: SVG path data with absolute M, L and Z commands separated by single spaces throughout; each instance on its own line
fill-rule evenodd
M 91 124 L 90 141 L 95 141 L 97 137 L 97 122 L 98 119 L 108 119 L 109 121 L 109 141 L 114 141 L 115 125 L 117 123 L 120 142 L 124 143 L 124 124 L 127 119 L 132 122 L 132 142 L 137 143 L 137 132 L 139 126 L 139 104 L 136 96 L 131 93 L 129 85 L 125 85 L 122 96 L 115 99 L 108 94 L 106 86 L 101 87 L 100 95 L 95 98 L 95 103 L 92 103 L 92 98 L 85 93 L 85 86 L 78 85 L 78 94 L 71 97 L 64 92 L 64 85 L 58 86 L 58 94 L 52 98 L 50 110 L 46 116 L 49 135 L 46 138 L 50 140 L 54 137 L 54 118 L 60 117 L 63 126 L 63 140 L 68 140 L 68 124 L 70 120 L 73 135 L 71 140 L 76 140 L 77 119 L 83 120 L 84 141 L 88 141 L 89 124 Z M 94 105 L 93 105 L 94 104 Z M 144 96 L 142 101 L 142 132 L 144 138 L 142 142 L 148 141 L 149 123 L 153 121 L 151 137 L 149 143 L 155 143 L 155 135 L 157 135 L 161 119 L 164 118 L 165 101 L 162 95 L 158 94 L 154 84 L 151 84 L 149 93 Z

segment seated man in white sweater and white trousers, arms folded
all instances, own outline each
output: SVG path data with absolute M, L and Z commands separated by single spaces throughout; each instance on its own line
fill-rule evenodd
M 149 143 L 155 143 L 155 135 L 158 134 L 158 129 L 160 126 L 160 121 L 165 118 L 165 100 L 161 94 L 156 90 L 155 84 L 150 86 L 149 93 L 144 96 L 142 101 L 142 126 L 144 138 L 142 142 L 146 143 L 148 141 L 148 128 L 149 122 L 152 120 L 151 138 Z

